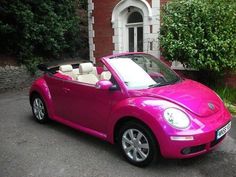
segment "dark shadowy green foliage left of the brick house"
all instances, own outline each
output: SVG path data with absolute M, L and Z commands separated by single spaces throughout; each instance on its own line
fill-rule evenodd
M 82 43 L 77 6 L 76 0 L 2 0 L 0 52 L 22 63 L 38 56 L 76 55 Z

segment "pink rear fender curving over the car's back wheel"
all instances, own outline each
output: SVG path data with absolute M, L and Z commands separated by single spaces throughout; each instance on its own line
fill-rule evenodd
M 48 116 L 50 118 L 53 118 L 54 106 L 50 90 L 48 88 L 47 82 L 44 80 L 44 77 L 41 77 L 34 81 L 30 89 L 30 96 L 33 92 L 37 92 L 43 98 L 44 103 L 46 104 Z

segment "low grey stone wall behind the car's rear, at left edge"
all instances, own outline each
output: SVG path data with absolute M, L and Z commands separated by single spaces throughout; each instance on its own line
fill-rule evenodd
M 30 87 L 37 76 L 32 76 L 25 66 L 0 66 L 0 92 Z

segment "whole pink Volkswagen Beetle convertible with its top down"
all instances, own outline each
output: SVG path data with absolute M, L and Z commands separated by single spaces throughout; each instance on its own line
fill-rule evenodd
M 92 63 L 40 65 L 30 89 L 35 119 L 53 119 L 110 143 L 146 166 L 158 155 L 189 158 L 209 152 L 231 127 L 231 115 L 206 86 L 180 78 L 145 53 Z

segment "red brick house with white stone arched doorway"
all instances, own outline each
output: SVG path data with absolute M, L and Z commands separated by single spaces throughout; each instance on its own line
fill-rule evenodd
M 159 56 L 160 7 L 167 0 L 88 0 L 90 60 L 120 52 Z

